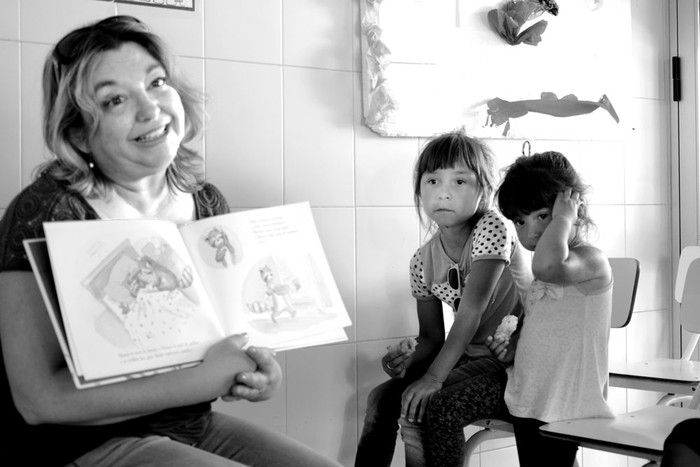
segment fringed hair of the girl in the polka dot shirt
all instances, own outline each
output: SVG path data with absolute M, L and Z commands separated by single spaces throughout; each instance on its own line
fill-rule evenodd
M 482 200 L 472 217 L 472 224 L 491 209 L 493 194 L 496 191 L 498 172 L 491 149 L 482 141 L 471 138 L 462 131 L 444 133 L 431 139 L 421 151 L 413 172 L 413 200 L 421 215 L 420 181 L 423 174 L 447 169 L 457 164 L 465 164 L 476 173 Z

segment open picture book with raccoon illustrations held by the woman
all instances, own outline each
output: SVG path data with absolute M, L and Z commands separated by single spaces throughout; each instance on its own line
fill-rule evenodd
M 44 231 L 25 249 L 78 388 L 196 365 L 230 334 L 275 350 L 347 340 L 308 203 Z

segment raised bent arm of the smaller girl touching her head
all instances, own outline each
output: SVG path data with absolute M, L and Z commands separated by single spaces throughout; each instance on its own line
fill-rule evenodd
M 569 249 L 580 205 L 579 194 L 570 188 L 557 195 L 552 220 L 542 233 L 532 258 L 535 278 L 554 284 L 591 282 L 592 288 L 604 286 L 611 279 L 605 255 L 593 247 Z

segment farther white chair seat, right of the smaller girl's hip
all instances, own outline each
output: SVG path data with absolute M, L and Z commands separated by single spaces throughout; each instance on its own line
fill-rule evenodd
M 700 384 L 700 362 L 660 358 L 610 365 L 610 386 L 692 395 Z M 652 387 L 658 384 L 657 388 Z

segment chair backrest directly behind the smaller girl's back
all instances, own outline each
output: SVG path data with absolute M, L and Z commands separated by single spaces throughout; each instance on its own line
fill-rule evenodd
M 639 260 L 636 258 L 609 258 L 613 273 L 613 303 L 610 327 L 623 328 L 632 319 L 639 282 Z

